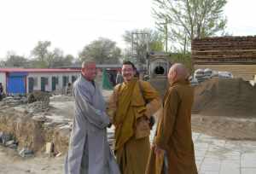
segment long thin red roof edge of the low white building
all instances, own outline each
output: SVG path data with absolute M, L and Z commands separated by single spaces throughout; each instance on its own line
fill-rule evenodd
M 77 73 L 77 69 L 0 68 L 0 73 Z

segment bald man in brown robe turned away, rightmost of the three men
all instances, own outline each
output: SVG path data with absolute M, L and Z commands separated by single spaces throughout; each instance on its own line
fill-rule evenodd
M 188 74 L 182 64 L 169 70 L 170 87 L 164 96 L 146 174 L 197 174 L 191 131 L 194 90 Z

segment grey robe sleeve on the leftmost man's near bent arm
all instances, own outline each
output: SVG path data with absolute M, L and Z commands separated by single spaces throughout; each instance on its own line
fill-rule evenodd
M 104 129 L 109 124 L 108 115 L 99 109 L 93 107 L 90 103 L 90 94 L 88 91 L 82 89 L 79 85 L 73 90 L 79 109 L 80 115 L 88 120 L 90 124 L 95 125 L 99 129 Z

